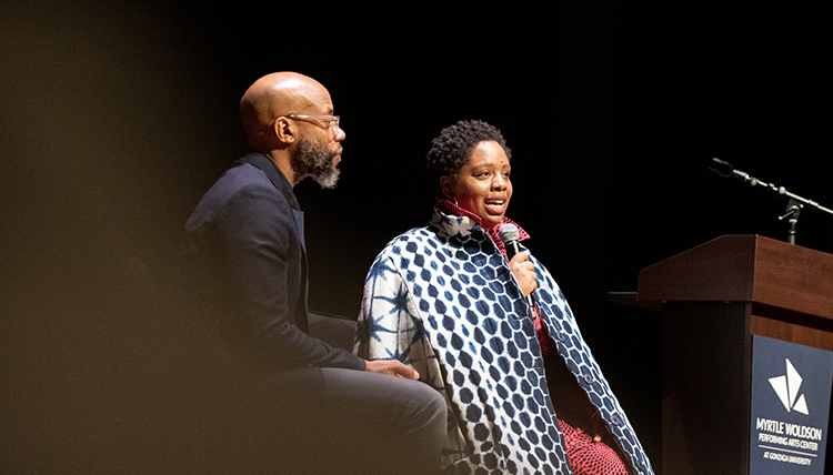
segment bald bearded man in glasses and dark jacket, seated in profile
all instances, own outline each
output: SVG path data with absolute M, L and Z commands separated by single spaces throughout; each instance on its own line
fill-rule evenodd
M 277 458 L 295 458 L 281 468 L 429 474 L 439 467 L 444 401 L 399 361 L 364 361 L 307 334 L 303 213 L 292 188 L 308 176 L 335 185 L 347 134 L 332 114 L 329 92 L 311 78 L 255 81 L 240 102 L 253 152 L 202 198 L 188 241 L 219 284 L 210 293 L 227 347 L 260 390 L 273 391 L 274 434 L 257 438 L 274 437 Z

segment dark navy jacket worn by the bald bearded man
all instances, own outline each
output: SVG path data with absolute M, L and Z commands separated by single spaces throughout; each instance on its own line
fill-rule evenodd
M 271 370 L 365 368 L 358 356 L 307 334 L 303 212 L 268 156 L 237 160 L 197 205 L 185 232 L 237 353 Z

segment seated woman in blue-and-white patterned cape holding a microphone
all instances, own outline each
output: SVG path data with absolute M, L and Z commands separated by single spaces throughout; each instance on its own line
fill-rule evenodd
M 400 360 L 445 396 L 446 474 L 652 474 L 550 273 L 525 250 L 506 260 L 510 156 L 481 121 L 433 140 L 433 216 L 374 261 L 355 352 Z

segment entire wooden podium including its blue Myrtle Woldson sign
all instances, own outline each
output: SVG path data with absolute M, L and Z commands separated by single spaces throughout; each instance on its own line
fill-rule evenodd
M 663 315 L 664 474 L 824 473 L 833 254 L 720 236 L 643 269 L 636 303 Z

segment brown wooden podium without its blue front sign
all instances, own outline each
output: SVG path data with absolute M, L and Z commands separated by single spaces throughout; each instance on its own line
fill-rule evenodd
M 752 335 L 833 351 L 833 255 L 724 235 L 642 270 L 658 303 L 662 473 L 749 474 Z

